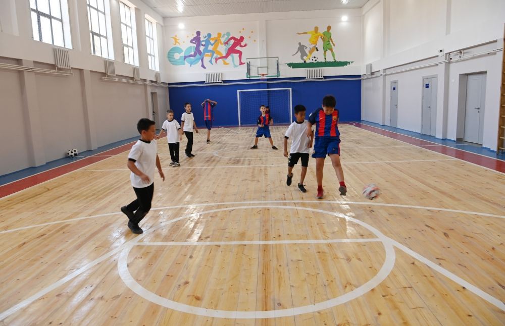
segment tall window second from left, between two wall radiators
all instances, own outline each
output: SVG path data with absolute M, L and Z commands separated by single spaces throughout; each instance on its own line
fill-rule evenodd
M 91 53 L 108 59 L 114 59 L 112 33 L 110 28 L 109 2 L 104 0 L 87 0 L 89 37 Z

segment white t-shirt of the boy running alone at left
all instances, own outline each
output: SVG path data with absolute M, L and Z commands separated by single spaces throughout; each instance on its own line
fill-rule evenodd
M 133 172 L 130 174 L 131 185 L 135 188 L 145 188 L 150 186 L 155 180 L 156 171 L 156 154 L 158 153 L 158 145 L 156 141 L 146 142 L 137 140 L 132 146 L 128 154 L 128 160 L 134 160 L 135 166 L 143 174 L 149 177 L 149 182 L 145 183 L 139 176 Z

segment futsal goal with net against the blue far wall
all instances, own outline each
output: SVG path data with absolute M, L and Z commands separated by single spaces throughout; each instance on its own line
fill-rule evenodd
M 239 126 L 256 125 L 262 104 L 270 107 L 274 124 L 293 122 L 291 88 L 239 89 L 237 101 Z

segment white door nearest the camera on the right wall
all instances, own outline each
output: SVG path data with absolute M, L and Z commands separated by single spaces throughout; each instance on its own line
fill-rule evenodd
M 486 74 L 468 75 L 464 141 L 482 144 L 485 99 Z

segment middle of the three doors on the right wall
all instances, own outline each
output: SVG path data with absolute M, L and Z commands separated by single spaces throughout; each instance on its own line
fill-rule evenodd
M 421 133 L 435 136 L 437 123 L 437 78 L 423 78 Z

